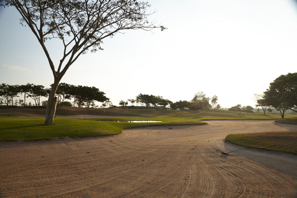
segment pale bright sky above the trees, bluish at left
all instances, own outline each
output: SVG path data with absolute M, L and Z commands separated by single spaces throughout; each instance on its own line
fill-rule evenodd
M 297 4 L 293 0 L 149 0 L 150 20 L 168 29 L 126 30 L 81 55 L 61 82 L 95 86 L 119 106 L 138 94 L 172 102 L 203 91 L 217 104 L 255 107 L 280 75 L 297 68 Z M 0 83 L 49 88 L 53 74 L 28 26 L 12 7 L 0 7 Z M 54 63 L 61 41 L 45 43 Z M 101 103 L 100 103 L 101 104 Z

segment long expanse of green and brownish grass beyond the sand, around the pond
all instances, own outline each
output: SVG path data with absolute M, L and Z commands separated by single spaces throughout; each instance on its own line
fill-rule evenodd
M 44 111 L 33 109 L 32 112 Z M 2 109 L 8 115 L 32 116 L 28 108 Z M 92 118 L 86 120 L 55 118 L 54 125 L 44 126 L 43 117 L 12 117 L 0 116 L 0 140 L 40 140 L 62 137 L 89 137 L 110 134 L 119 134 L 122 129 L 135 126 L 171 125 L 171 124 L 200 124 L 200 120 L 208 119 L 277 119 L 278 114 L 263 115 L 260 113 L 246 113 L 245 118 L 239 117 L 238 112 L 225 110 L 204 110 L 191 112 L 162 111 L 162 110 L 105 110 L 62 107 L 57 110 L 60 115 L 113 115 L 113 116 L 148 116 L 148 118 L 113 118 L 113 120 L 155 120 L 161 123 L 118 123 L 108 120 L 110 118 Z M 288 115 L 288 118 L 296 115 Z

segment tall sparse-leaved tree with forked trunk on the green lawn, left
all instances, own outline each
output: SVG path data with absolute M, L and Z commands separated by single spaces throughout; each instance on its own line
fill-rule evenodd
M 102 39 L 122 30 L 166 29 L 148 21 L 147 16 L 154 13 L 147 13 L 148 2 L 136 0 L 0 0 L 0 6 L 18 10 L 21 24 L 29 26 L 48 59 L 54 83 L 46 107 L 46 125 L 53 124 L 59 82 L 81 54 L 102 50 Z M 45 46 L 45 41 L 53 38 L 61 39 L 64 46 L 57 67 Z

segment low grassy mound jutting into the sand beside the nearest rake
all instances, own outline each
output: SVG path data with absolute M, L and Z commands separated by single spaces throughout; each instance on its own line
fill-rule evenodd
M 226 140 L 242 146 L 297 154 L 297 132 L 260 132 L 229 134 Z

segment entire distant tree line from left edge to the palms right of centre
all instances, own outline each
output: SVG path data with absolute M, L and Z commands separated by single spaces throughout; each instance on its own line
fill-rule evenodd
M 53 84 L 50 85 L 52 87 Z M 5 99 L 0 99 L 0 104 L 6 104 L 7 106 L 11 104 L 12 106 L 46 106 L 47 101 L 40 101 L 41 97 L 48 97 L 51 88 L 45 88 L 43 85 L 34 85 L 27 83 L 26 85 L 7 85 L 2 83 L 0 85 L 0 96 Z M 24 94 L 24 99 L 19 99 L 13 101 L 15 97 L 19 97 L 19 94 Z M 26 98 L 32 98 L 35 104 L 27 104 Z M 98 107 L 94 102 L 102 102 L 103 108 L 118 108 L 110 102 L 109 98 L 105 96 L 105 93 L 99 91 L 96 87 L 88 87 L 82 85 L 70 85 L 67 83 L 60 83 L 57 91 L 56 97 L 58 99 L 58 106 L 73 106 L 77 107 Z M 73 103 L 66 101 L 73 99 Z M 138 94 L 135 99 L 128 99 L 127 101 L 119 101 L 119 108 L 128 108 L 128 101 L 131 102 L 130 108 L 136 108 L 143 110 L 151 110 L 152 108 L 158 110 L 206 110 L 206 109 L 219 109 L 220 105 L 217 104 L 218 97 L 214 95 L 213 97 L 206 97 L 202 91 L 196 93 L 192 100 L 179 100 L 177 102 L 172 102 L 168 99 L 164 99 L 162 96 L 154 96 L 149 94 Z M 211 101 L 211 104 L 209 104 Z

